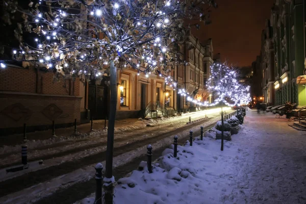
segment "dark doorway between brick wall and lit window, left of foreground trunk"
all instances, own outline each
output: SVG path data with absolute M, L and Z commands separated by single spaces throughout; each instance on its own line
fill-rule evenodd
M 89 85 L 88 87 L 88 109 L 93 119 L 105 119 L 108 115 L 107 87 Z

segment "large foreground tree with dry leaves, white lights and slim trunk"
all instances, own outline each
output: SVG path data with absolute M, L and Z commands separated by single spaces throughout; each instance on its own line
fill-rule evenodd
M 25 66 L 45 67 L 55 78 L 99 81 L 110 76 L 110 115 L 106 177 L 112 178 L 112 149 L 117 104 L 117 69 L 133 68 L 138 74 L 165 77 L 180 61 L 179 44 L 190 26 L 184 19 L 208 21 L 213 0 L 37 0 L 28 8 L 17 0 L 4 0 L 4 19 L 16 25 L 18 49 L 13 60 Z M 20 2 L 21 3 L 21 2 Z M 22 2 L 24 4 L 24 2 Z M 199 24 L 195 24 L 199 28 Z M 32 40 L 25 41 L 32 37 Z M 5 68 L 9 61 L 1 61 Z M 167 83 L 176 85 L 172 79 Z

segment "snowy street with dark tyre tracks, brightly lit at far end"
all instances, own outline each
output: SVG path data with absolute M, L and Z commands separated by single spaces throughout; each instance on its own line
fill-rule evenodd
M 189 115 L 194 119 L 198 119 L 205 117 L 205 114 L 209 116 L 208 119 L 186 124 Z M 199 132 L 200 125 L 213 124 L 219 117 L 218 112 L 198 112 L 181 117 L 150 121 L 149 123 L 153 126 L 142 127 L 139 130 L 130 131 L 127 129 L 128 131 L 118 132 L 115 134 L 114 168 L 122 168 L 123 164 L 144 155 L 147 142 L 154 143 L 155 148 L 165 147 L 165 145 L 173 141 L 173 134 L 188 135 L 190 129 Z M 186 131 L 184 131 L 185 129 Z M 103 162 L 105 159 L 106 138 L 100 135 L 93 135 L 74 139 L 73 141 L 73 138 L 69 138 L 68 141 L 72 140 L 69 145 L 65 143 L 67 140 L 63 140 L 62 143 L 66 145 L 55 143 L 53 148 L 40 147 L 40 149 L 30 152 L 36 158 L 49 158 L 44 160 L 43 165 L 36 165 L 28 170 L 14 173 L 6 173 L 5 169 L 2 169 L 0 173 L 1 185 L 8 188 L 2 191 L 0 202 L 33 203 L 39 201 L 40 203 L 45 203 L 46 200 L 49 200 L 50 203 L 58 203 L 58 200 L 52 202 L 52 199 L 48 199 L 47 196 L 53 196 L 52 194 L 55 192 L 55 195 L 59 195 L 58 191 L 71 190 L 74 192 L 76 184 L 84 186 L 84 183 L 91 182 L 94 176 L 93 166 L 97 162 Z M 28 144 L 30 147 L 36 146 L 35 142 Z M 12 162 L 13 158 L 18 160 L 20 155 L 12 154 L 10 159 L 4 157 L 2 162 Z M 119 171 L 122 173 L 122 170 Z M 123 170 L 124 174 L 129 171 Z M 24 185 L 18 185 L 20 182 L 23 182 Z M 83 197 L 88 194 L 80 193 Z

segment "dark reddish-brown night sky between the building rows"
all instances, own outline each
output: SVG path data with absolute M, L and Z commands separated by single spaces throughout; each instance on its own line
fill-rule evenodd
M 213 39 L 214 54 L 235 66 L 250 66 L 260 54 L 261 33 L 274 0 L 216 0 L 212 24 L 193 31 L 200 40 Z

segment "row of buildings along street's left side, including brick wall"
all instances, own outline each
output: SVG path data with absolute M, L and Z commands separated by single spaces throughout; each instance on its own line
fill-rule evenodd
M 199 110 L 187 96 L 178 93 L 179 89 L 199 102 L 211 102 L 206 81 L 213 64 L 212 39 L 200 43 L 190 34 L 180 46 L 180 55 L 186 63 L 168 70 L 159 68 L 162 77 L 157 72 L 146 75 L 132 68 L 119 69 L 116 119 L 144 117 L 146 110 L 154 107 L 152 105 L 161 106 L 164 113 L 170 115 Z M 59 127 L 72 125 L 74 119 L 86 123 L 91 117 L 108 118 L 108 77 L 90 82 L 84 78 L 54 81 L 53 72 L 25 64 L 1 68 L 0 77 L 0 119 L 4 121 L 0 130 L 3 134 L 22 132 L 24 123 L 31 131 L 48 129 L 53 121 Z M 166 83 L 165 77 L 177 82 L 177 86 Z

